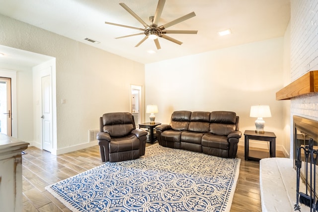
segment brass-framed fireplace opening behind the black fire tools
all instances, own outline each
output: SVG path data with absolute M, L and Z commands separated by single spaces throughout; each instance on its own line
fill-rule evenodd
M 300 117 L 300 116 L 293 116 L 293 121 L 294 121 L 294 168 L 296 169 L 295 166 L 295 159 L 296 159 L 296 151 L 297 147 L 305 147 L 309 145 L 310 139 L 313 139 L 313 149 L 318 150 L 318 121 Z M 309 170 L 306 170 L 306 167 L 310 167 L 310 165 L 306 166 L 305 165 L 305 152 L 302 150 L 301 151 L 301 160 L 302 160 L 302 167 L 300 170 L 300 177 L 302 181 L 305 183 L 306 182 L 306 172 L 308 173 L 308 179 L 310 178 L 310 172 Z M 310 158 L 310 157 L 309 157 Z M 318 162 L 316 163 L 316 169 L 317 168 Z M 315 173 L 313 173 L 314 175 Z M 295 176 L 296 177 L 296 176 Z M 314 179 L 314 176 L 312 176 Z M 308 182 L 309 184 L 310 182 Z M 318 185 L 318 173 L 316 173 L 316 185 Z M 308 188 L 310 188 L 310 185 L 308 185 Z M 303 191 L 306 192 L 306 191 Z M 308 191 L 310 192 L 310 191 Z M 313 191 L 314 192 L 314 189 Z M 318 189 L 316 190 L 316 200 L 318 198 Z

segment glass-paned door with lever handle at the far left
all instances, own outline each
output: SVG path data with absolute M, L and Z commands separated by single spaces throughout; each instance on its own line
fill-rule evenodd
M 0 77 L 0 133 L 12 136 L 11 78 Z

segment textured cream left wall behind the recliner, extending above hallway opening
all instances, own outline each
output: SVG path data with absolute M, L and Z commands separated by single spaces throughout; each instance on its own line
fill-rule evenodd
M 2 15 L 0 29 L 0 45 L 56 58 L 57 149 L 60 153 L 87 143 L 88 130 L 99 128 L 99 117 L 103 113 L 130 111 L 130 85 L 144 86 L 143 64 Z M 62 99 L 65 104 L 61 104 Z M 32 113 L 29 106 L 20 109 L 20 113 Z M 23 127 L 33 132 L 29 129 L 32 127 Z

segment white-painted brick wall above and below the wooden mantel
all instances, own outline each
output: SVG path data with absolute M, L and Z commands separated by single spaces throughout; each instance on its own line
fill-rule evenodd
M 318 0 L 291 0 L 291 81 L 318 70 Z M 318 93 L 291 100 L 291 117 L 318 120 Z

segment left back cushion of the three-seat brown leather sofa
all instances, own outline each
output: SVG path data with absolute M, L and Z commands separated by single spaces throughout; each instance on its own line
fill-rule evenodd
M 191 111 L 174 111 L 171 115 L 171 128 L 176 131 L 188 130 Z

